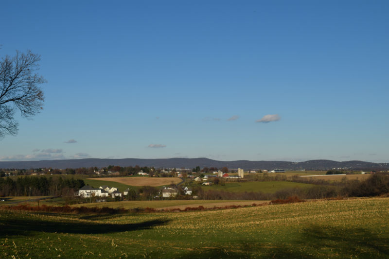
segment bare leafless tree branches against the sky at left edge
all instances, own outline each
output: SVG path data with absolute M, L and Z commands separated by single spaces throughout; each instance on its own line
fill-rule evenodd
M 0 139 L 16 135 L 18 121 L 14 119 L 19 110 L 24 118 L 39 113 L 44 102 L 40 84 L 46 80 L 35 73 L 39 69 L 40 55 L 31 51 L 16 52 L 5 56 L 0 62 Z

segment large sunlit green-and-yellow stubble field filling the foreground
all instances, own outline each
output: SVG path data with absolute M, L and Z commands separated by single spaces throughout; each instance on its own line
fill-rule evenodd
M 389 258 L 389 198 L 140 214 L 2 210 L 0 258 Z

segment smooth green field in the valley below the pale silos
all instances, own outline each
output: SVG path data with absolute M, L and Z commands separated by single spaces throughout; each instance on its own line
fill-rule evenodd
M 269 182 L 233 182 L 226 183 L 226 185 L 212 185 L 204 186 L 202 185 L 203 190 L 226 190 L 226 191 L 262 191 L 265 193 L 274 193 L 278 190 L 285 188 L 310 188 L 315 185 L 313 184 L 303 184 L 303 183 L 293 183 L 293 182 L 282 182 L 282 181 L 269 181 Z

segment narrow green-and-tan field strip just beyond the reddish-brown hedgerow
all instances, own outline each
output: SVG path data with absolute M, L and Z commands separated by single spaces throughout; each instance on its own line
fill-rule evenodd
M 111 208 L 186 208 L 186 207 L 225 207 L 229 205 L 251 205 L 268 201 L 223 201 L 223 200 L 172 200 L 172 201 L 125 201 L 75 204 L 72 207 L 111 207 Z

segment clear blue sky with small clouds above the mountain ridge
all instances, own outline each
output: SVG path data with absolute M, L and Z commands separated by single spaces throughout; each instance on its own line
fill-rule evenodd
M 389 162 L 388 13 L 386 0 L 2 1 L 0 57 L 40 54 L 48 83 L 0 160 Z

